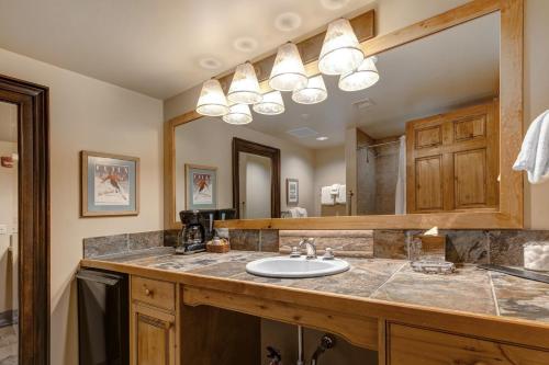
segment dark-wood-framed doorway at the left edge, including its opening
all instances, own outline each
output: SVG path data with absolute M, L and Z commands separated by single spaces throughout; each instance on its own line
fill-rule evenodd
M 47 365 L 47 88 L 0 76 L 0 365 Z

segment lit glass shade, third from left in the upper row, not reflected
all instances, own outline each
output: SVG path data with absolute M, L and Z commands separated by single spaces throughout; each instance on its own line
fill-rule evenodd
M 307 77 L 298 46 L 288 42 L 278 48 L 269 85 L 278 91 L 293 91 L 305 87 Z

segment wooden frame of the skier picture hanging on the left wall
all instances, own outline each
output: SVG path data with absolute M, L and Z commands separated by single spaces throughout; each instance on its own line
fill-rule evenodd
M 90 212 L 88 210 L 88 157 L 101 157 L 108 159 L 133 161 L 135 163 L 135 210 L 120 212 Z M 81 217 L 121 217 L 121 216 L 137 216 L 139 215 L 139 158 L 114 155 L 105 152 L 80 151 L 80 216 Z

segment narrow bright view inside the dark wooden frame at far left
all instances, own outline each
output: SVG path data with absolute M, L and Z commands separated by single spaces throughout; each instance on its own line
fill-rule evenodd
M 0 102 L 0 364 L 18 364 L 18 106 Z

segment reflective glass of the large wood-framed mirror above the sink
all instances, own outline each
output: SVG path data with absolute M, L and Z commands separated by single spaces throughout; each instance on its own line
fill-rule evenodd
M 184 164 L 195 163 L 217 168 L 217 208 L 271 217 L 272 166 L 257 156 L 238 156 L 233 202 L 234 138 L 280 149 L 281 217 L 495 210 L 498 57 L 495 12 L 377 55 L 368 89 L 343 91 L 338 77 L 323 76 L 320 103 L 285 92 L 282 114 L 254 112 L 247 125 L 179 125 L 176 210 L 186 206 Z

